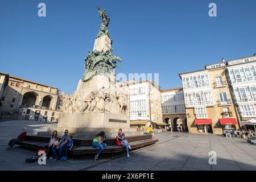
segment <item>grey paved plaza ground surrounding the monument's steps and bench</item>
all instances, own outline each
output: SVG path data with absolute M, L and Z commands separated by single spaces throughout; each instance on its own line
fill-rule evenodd
M 0 122 L 0 170 L 256 170 L 256 145 L 241 138 L 226 138 L 212 134 L 155 133 L 159 142 L 153 146 L 125 154 L 101 155 L 94 162 L 93 155 L 69 158 L 66 162 L 47 160 L 46 165 L 25 163 L 35 155 L 35 150 L 14 146 L 6 151 L 7 143 L 15 138 L 23 127 L 28 135 L 46 131 L 56 123 L 38 121 Z M 124 131 L 125 132 L 125 131 Z M 216 151 L 217 164 L 210 165 L 209 151 Z

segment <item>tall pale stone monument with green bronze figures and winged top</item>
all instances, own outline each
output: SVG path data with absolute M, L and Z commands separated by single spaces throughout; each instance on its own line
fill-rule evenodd
M 104 130 L 108 137 L 114 137 L 123 128 L 126 135 L 139 134 L 136 129 L 130 129 L 129 90 L 120 88 L 115 80 L 114 68 L 122 60 L 112 55 L 110 19 L 105 10 L 100 7 L 98 10 L 102 22 L 93 51 L 88 51 L 84 58 L 84 75 L 76 91 L 64 97 L 57 129 L 49 128 L 48 133 L 68 129 L 77 134 L 75 137 L 90 137 Z

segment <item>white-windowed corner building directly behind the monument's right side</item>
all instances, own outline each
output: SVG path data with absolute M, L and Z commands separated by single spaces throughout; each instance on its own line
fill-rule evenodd
M 161 90 L 150 80 L 137 82 L 134 80 L 119 83 L 121 88 L 129 90 L 130 127 L 163 128 Z

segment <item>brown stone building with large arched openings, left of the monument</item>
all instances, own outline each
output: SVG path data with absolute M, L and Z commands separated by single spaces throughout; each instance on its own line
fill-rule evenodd
M 57 88 L 15 76 L 5 77 L 6 86 L 2 89 L 0 99 L 2 119 L 57 121 L 59 118 Z

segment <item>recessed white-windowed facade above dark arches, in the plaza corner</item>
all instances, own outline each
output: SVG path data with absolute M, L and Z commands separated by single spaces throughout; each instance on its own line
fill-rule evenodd
M 183 88 L 163 89 L 161 100 L 163 121 L 174 131 L 188 131 Z

